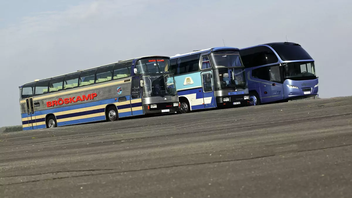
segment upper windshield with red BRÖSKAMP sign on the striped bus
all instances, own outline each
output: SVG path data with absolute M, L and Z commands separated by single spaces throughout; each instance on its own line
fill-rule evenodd
M 136 63 L 138 74 L 155 74 L 165 72 L 169 66 L 169 59 L 147 58 L 138 60 Z

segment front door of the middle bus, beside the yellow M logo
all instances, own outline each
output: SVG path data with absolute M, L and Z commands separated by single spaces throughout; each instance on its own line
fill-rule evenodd
M 214 96 L 214 83 L 212 71 L 206 71 L 201 73 L 202 76 L 202 87 L 203 87 L 203 101 L 204 108 L 214 108 L 215 96 Z

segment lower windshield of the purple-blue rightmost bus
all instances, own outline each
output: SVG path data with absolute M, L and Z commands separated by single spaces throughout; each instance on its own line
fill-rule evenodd
M 283 74 L 285 79 L 315 79 L 314 62 L 291 62 L 283 66 Z M 303 80 L 303 79 L 302 79 Z

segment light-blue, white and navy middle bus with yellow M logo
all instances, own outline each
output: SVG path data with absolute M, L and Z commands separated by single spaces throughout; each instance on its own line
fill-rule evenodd
M 170 57 L 180 112 L 249 106 L 245 68 L 234 47 L 213 47 Z

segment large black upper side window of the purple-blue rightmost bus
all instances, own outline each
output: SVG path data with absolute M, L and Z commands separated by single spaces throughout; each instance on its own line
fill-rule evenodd
M 243 65 L 246 68 L 278 62 L 275 53 L 266 46 L 257 46 L 240 50 L 240 56 Z

